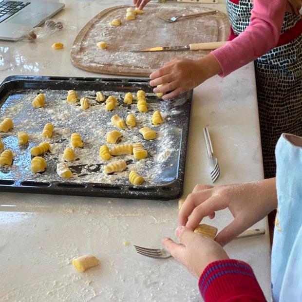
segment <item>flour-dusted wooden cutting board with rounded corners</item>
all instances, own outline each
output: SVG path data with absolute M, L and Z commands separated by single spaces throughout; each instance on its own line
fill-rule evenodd
M 208 51 L 132 53 L 131 50 L 154 46 L 176 46 L 189 43 L 224 41 L 229 34 L 227 16 L 218 11 L 208 15 L 167 23 L 157 16 L 168 18 L 181 14 L 208 10 L 201 6 L 182 3 L 151 4 L 143 15 L 135 20 L 126 20 L 126 8 L 114 6 L 96 15 L 77 35 L 71 51 L 72 63 L 90 72 L 123 75 L 149 76 L 165 62 L 175 58 L 197 59 Z M 111 26 L 113 19 L 122 25 Z M 107 42 L 107 49 L 96 46 L 99 41 Z

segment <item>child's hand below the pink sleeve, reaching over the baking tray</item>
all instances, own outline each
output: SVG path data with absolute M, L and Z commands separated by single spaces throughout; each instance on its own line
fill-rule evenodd
M 174 59 L 163 65 L 162 68 L 151 73 L 150 85 L 157 86 L 154 93 L 166 93 L 164 100 L 173 98 L 203 83 L 209 77 L 221 73 L 221 67 L 212 55 L 199 60 Z

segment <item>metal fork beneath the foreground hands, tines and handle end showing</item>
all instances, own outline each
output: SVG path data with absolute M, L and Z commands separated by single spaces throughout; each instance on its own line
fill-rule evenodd
M 255 237 L 263 234 L 265 234 L 264 228 L 248 229 L 245 232 L 238 235 L 235 239 Z M 148 248 L 138 245 L 134 245 L 134 247 L 137 253 L 146 257 L 157 258 L 157 259 L 168 259 L 171 257 L 171 254 L 164 248 Z

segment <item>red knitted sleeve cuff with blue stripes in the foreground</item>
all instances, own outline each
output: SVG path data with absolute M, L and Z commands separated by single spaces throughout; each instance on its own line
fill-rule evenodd
M 266 301 L 252 268 L 243 261 L 212 262 L 200 276 L 198 287 L 205 302 Z

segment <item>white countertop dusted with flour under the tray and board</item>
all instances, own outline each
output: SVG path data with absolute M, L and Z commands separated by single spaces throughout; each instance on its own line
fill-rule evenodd
M 97 76 L 72 66 L 69 50 L 82 26 L 113 2 L 62 2 L 66 9 L 56 18 L 72 21 L 59 36 L 37 43 L 1 41 L 1 80 L 17 74 Z M 59 55 L 50 47 L 56 41 L 65 44 Z M 210 184 L 204 126 L 222 171 L 217 185 L 263 178 L 253 64 L 194 90 L 184 195 L 197 183 Z M 162 237 L 174 238 L 177 213 L 176 201 L 1 192 L 0 301 L 200 301 L 197 280 L 179 263 L 144 258 L 123 245 L 128 240 L 157 247 Z M 222 229 L 230 221 L 225 210 L 210 224 Z M 256 226 L 266 228 L 266 219 Z M 252 265 L 269 299 L 268 232 L 226 249 L 230 257 Z M 70 260 L 88 253 L 101 264 L 80 274 Z

